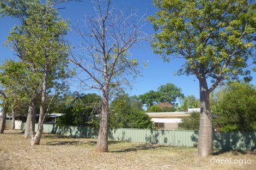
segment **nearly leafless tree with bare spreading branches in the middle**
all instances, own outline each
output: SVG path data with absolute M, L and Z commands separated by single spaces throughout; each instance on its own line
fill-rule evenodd
M 77 32 L 82 37 L 81 53 L 72 53 L 70 60 L 80 73 L 78 77 L 87 88 L 102 92 L 100 129 L 96 150 L 108 152 L 108 115 L 109 92 L 112 87 L 129 84 L 139 72 L 138 61 L 129 57 L 129 49 L 145 40 L 142 32 L 142 20 L 138 10 L 116 12 L 111 0 L 96 2 L 95 15 L 84 17 L 84 26 Z

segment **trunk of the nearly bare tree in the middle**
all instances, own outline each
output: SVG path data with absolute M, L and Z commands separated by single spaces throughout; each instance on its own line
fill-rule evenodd
M 108 152 L 108 87 L 102 91 L 102 110 L 101 110 L 101 121 L 99 135 L 97 138 L 96 151 L 97 152 Z

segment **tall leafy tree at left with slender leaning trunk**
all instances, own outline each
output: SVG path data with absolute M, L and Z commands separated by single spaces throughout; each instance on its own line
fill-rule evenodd
M 8 41 L 13 44 L 19 58 L 30 64 L 41 78 L 40 116 L 32 145 L 40 143 L 47 89 L 53 87 L 56 81 L 67 77 L 65 68 L 68 54 L 63 36 L 68 30 L 68 23 L 58 16 L 53 5 L 54 1 L 46 1 L 45 4 L 33 1 L 32 5 L 28 1 L 14 1 L 4 5 L 1 3 L 3 14 L 17 17 L 22 21 L 21 26 L 16 26 L 10 33 Z M 21 7 L 25 9 L 21 10 Z

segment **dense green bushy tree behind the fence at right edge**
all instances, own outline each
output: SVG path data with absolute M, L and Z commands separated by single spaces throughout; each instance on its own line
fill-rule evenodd
M 251 84 L 233 83 L 217 98 L 215 114 L 221 131 L 256 130 L 256 89 Z

